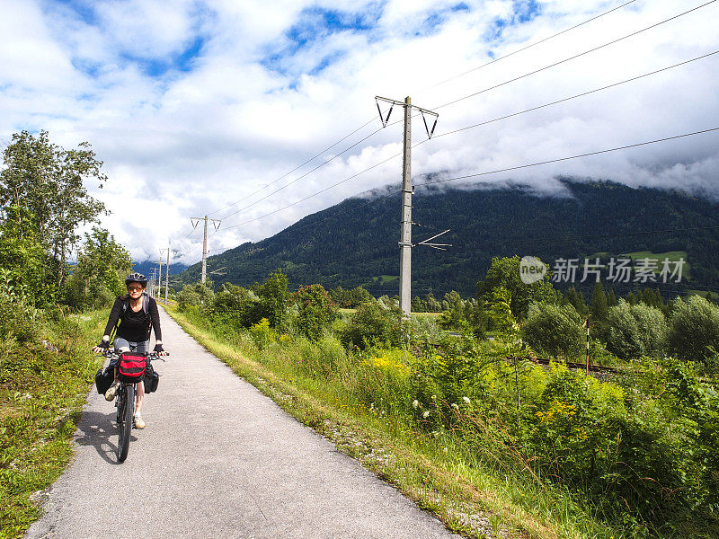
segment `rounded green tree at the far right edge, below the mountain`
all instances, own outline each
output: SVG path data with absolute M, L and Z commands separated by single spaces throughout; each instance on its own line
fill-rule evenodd
M 719 307 L 704 297 L 678 299 L 670 315 L 667 344 L 670 354 L 685 361 L 706 362 L 719 348 Z

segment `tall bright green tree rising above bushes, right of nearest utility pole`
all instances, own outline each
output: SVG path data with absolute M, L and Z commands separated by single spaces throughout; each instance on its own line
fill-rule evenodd
M 519 320 L 527 316 L 531 303 L 556 301 L 555 289 L 548 280 L 543 278 L 531 285 L 521 281 L 518 255 L 493 258 L 486 278 L 477 282 L 477 296 L 480 300 L 490 303 L 493 301 L 493 290 L 496 288 L 504 288 L 510 293 L 511 313 Z

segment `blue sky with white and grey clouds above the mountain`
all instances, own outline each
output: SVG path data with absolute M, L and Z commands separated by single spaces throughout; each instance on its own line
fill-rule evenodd
M 0 146 L 22 129 L 67 148 L 89 141 L 110 177 L 102 191 L 87 185 L 112 210 L 103 225 L 138 261 L 169 242 L 191 263 L 193 216 L 222 219 L 217 253 L 399 188 L 402 110 L 382 129 L 376 95 L 439 113 L 413 150 L 415 182 L 719 127 L 715 54 L 447 134 L 718 51 L 719 2 L 664 22 L 705 3 L 0 0 Z M 427 138 L 421 116 L 412 137 Z M 554 193 L 561 174 L 717 196 L 719 132 L 465 184 Z

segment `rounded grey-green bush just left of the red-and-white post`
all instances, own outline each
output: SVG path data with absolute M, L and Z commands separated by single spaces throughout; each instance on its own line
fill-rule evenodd
M 534 303 L 529 307 L 523 337 L 540 354 L 573 358 L 581 355 L 586 335 L 572 305 Z

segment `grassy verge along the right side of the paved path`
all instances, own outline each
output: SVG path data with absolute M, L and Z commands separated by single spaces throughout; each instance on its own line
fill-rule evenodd
M 499 536 L 493 530 L 523 539 L 627 537 L 595 520 L 591 508 L 571 493 L 508 469 L 500 459 L 494 465 L 483 462 L 452 431 L 421 433 L 412 421 L 368 408 L 348 389 L 361 384 L 361 368 L 339 343 L 333 347 L 330 341 L 317 351 L 303 340 L 271 342 L 261 352 L 244 333 L 227 340 L 207 327 L 206 318 L 168 313 L 238 376 L 454 531 L 477 538 Z M 320 360 L 312 363 L 313 355 Z M 335 372 L 309 376 L 326 366 L 327 355 L 337 358 Z M 304 371 L 297 367 L 303 363 Z

